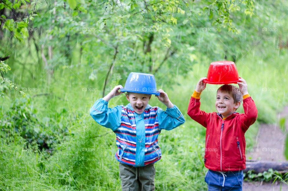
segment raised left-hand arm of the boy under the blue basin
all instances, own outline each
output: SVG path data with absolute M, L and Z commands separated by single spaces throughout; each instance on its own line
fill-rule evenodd
M 104 98 L 98 99 L 90 109 L 90 115 L 100 125 L 115 131 L 121 125 L 122 106 L 108 108 L 108 101 L 114 96 L 123 92 L 118 92 L 121 85 L 115 86 Z

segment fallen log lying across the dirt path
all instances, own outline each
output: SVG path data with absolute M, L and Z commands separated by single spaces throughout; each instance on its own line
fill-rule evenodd
M 258 174 L 259 172 L 268 171 L 269 168 L 272 168 L 274 171 L 286 171 L 288 170 L 288 162 L 246 161 L 246 168 L 243 172 L 252 170 Z

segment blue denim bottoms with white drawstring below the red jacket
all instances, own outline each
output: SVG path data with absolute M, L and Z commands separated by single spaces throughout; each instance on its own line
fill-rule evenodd
M 208 170 L 205 175 L 208 191 L 242 191 L 243 171 L 218 172 Z

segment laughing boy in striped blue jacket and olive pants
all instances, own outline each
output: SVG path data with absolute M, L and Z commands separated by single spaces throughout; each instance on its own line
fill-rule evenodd
M 151 94 L 127 92 L 128 105 L 108 108 L 108 101 L 119 92 L 115 86 L 104 98 L 95 102 L 90 115 L 100 125 L 110 128 L 116 134 L 122 190 L 154 190 L 154 163 L 161 159 L 158 135 L 162 129 L 171 130 L 183 124 L 185 119 L 169 100 L 167 93 L 159 89 L 159 101 L 167 106 L 163 111 L 148 104 Z

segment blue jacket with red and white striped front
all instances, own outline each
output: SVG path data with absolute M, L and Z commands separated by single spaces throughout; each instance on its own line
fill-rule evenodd
M 131 104 L 108 108 L 108 102 L 102 98 L 92 106 L 90 115 L 116 134 L 118 151 L 115 158 L 135 167 L 160 160 L 161 149 L 157 138 L 161 130 L 171 130 L 185 122 L 176 105 L 166 111 L 147 105 L 142 114 L 137 114 Z

